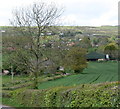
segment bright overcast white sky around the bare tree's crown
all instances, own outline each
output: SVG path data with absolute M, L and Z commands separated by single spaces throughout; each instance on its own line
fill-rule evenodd
M 9 25 L 15 7 L 29 5 L 36 0 L 1 0 L 0 26 Z M 37 0 L 41 1 L 41 0 Z M 119 0 L 43 0 L 65 8 L 62 24 L 75 26 L 118 25 Z

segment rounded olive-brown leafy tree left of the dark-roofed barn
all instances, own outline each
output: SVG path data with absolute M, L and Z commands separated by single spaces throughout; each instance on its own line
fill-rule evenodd
M 80 47 L 72 47 L 65 56 L 64 67 L 81 73 L 87 67 L 86 50 Z

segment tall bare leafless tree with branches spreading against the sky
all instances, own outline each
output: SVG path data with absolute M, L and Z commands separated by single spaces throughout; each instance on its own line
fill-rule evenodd
M 11 24 L 17 31 L 30 39 L 29 48 L 34 56 L 34 60 L 32 59 L 30 65 L 34 66 L 34 70 L 32 69 L 35 77 L 34 88 L 37 88 L 40 63 L 44 61 L 42 60 L 44 54 L 40 37 L 48 28 L 56 25 L 56 21 L 62 13 L 63 8 L 58 8 L 54 3 L 47 4 L 45 2 L 36 2 L 29 7 L 13 10 L 13 19 L 10 20 Z

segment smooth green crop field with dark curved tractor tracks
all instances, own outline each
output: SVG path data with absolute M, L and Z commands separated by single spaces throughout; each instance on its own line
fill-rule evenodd
M 39 89 L 56 86 L 75 86 L 79 84 L 95 84 L 118 81 L 118 62 L 90 62 L 81 74 L 63 77 L 39 84 Z

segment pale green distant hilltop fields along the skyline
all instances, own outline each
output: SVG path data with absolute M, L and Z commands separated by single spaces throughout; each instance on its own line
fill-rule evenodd
M 16 33 L 13 27 L 10 26 L 1 26 L 1 30 L 5 30 L 3 36 L 16 36 L 20 33 Z M 35 27 L 33 27 L 35 29 Z M 68 35 L 82 34 L 83 36 L 95 36 L 95 37 L 111 37 L 118 36 L 118 27 L 117 26 L 56 26 L 50 27 L 48 30 L 48 35 L 60 35 L 62 33 Z M 51 34 L 50 34 L 51 33 Z M 67 35 L 65 35 L 67 36 Z

